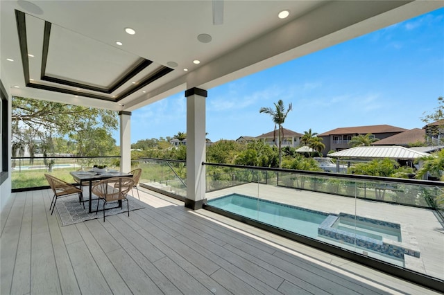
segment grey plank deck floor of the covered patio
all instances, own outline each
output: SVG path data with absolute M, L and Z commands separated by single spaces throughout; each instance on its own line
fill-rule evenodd
M 146 208 L 60 226 L 50 190 L 1 212 L 0 294 L 436 294 L 140 188 Z

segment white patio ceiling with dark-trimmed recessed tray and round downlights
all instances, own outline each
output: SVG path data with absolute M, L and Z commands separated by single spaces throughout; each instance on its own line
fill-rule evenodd
M 398 0 L 1 0 L 0 78 L 12 96 L 132 111 L 443 6 Z M 221 24 L 213 23 L 213 7 Z M 279 19 L 281 10 L 289 17 Z

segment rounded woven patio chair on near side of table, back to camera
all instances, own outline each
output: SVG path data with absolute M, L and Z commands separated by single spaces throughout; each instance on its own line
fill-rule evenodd
M 128 203 L 126 196 L 133 186 L 134 180 L 131 177 L 112 177 L 103 179 L 92 187 L 92 193 L 99 197 L 97 200 L 96 214 L 99 212 L 100 201 L 103 201 L 103 222 L 105 222 L 105 205 L 110 202 L 122 202 L 126 200 L 128 217 L 130 216 L 130 204 Z

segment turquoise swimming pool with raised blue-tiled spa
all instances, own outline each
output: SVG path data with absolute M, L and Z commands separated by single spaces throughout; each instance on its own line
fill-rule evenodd
M 207 204 L 317 240 L 333 240 L 397 259 L 403 259 L 404 254 L 420 257 L 418 249 L 402 243 L 401 226 L 393 222 L 325 213 L 239 194 L 210 199 Z

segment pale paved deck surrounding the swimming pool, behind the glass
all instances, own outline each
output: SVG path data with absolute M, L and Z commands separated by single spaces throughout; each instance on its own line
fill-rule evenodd
M 402 242 L 419 249 L 420 258 L 404 256 L 405 267 L 444 279 L 444 227 L 434 211 L 265 184 L 244 184 L 207 193 L 207 199 L 237 193 L 325 213 L 348 213 L 401 224 Z

